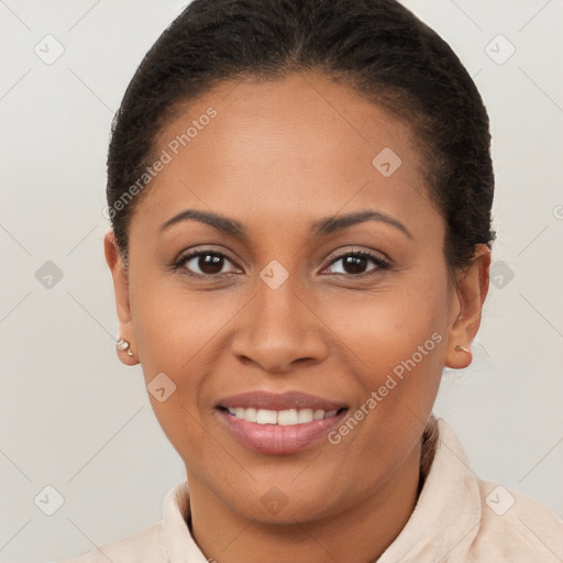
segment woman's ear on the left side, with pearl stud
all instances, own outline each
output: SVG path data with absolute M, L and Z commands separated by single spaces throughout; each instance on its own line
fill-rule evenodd
M 106 253 L 106 262 L 113 277 L 113 291 L 115 294 L 115 306 L 119 319 L 119 333 L 131 344 L 133 354 L 136 351 L 135 336 L 131 323 L 131 307 L 129 302 L 129 278 L 123 260 L 119 252 L 118 243 L 113 231 L 109 231 L 103 238 L 103 251 Z M 135 355 L 130 356 L 125 351 L 118 350 L 118 357 L 125 365 L 139 364 Z

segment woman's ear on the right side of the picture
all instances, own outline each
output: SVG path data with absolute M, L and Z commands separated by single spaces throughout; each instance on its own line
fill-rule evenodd
M 483 305 L 488 292 L 490 250 L 477 244 L 471 266 L 456 276 L 452 292 L 450 323 L 444 364 L 461 369 L 472 362 L 472 354 L 456 350 L 457 345 L 471 350 L 471 343 L 481 325 Z

